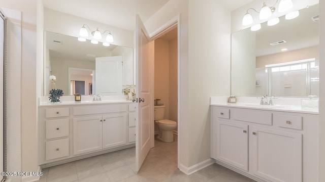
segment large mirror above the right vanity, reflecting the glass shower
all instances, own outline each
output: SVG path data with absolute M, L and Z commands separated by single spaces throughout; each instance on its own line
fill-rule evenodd
M 319 6 L 299 13 L 291 20 L 279 17 L 274 26 L 264 22 L 260 30 L 232 33 L 231 95 L 318 96 Z

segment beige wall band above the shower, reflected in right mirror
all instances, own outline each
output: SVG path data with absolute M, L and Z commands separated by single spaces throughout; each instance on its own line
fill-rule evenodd
M 291 61 L 300 61 L 304 59 L 315 58 L 319 61 L 319 46 L 305 49 L 288 51 L 278 54 L 256 57 L 256 68 L 265 68 L 268 64 L 285 63 Z

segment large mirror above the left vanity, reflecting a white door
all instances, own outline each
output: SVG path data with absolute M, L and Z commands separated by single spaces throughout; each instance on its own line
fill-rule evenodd
M 123 85 L 134 84 L 132 48 L 114 44 L 105 47 L 101 42 L 99 44 L 92 44 L 90 40 L 82 42 L 78 41 L 77 37 L 48 31 L 44 32 L 44 41 L 44 95 L 48 95 L 51 87 L 62 89 L 64 95 L 72 95 L 74 92 L 83 95 L 122 95 Z M 118 69 L 113 69 L 112 66 L 96 68 L 95 60 L 105 57 L 108 59 L 118 57 L 120 60 Z M 115 66 L 114 63 L 101 65 Z M 55 85 L 50 83 L 50 75 L 55 76 Z M 96 84 L 95 75 L 108 77 Z M 116 80 L 119 80 L 118 84 Z M 97 92 L 103 90 L 96 89 L 99 87 L 114 92 L 96 93 L 96 90 Z

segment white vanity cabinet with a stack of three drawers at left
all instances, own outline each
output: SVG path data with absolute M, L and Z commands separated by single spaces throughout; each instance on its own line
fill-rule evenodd
M 39 107 L 39 164 L 51 166 L 135 146 L 136 104 Z

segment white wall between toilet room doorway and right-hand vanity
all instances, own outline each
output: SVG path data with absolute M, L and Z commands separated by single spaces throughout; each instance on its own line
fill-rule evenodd
M 214 0 L 189 1 L 188 21 L 186 123 L 192 166 L 210 159 L 210 97 L 230 95 L 231 12 Z

